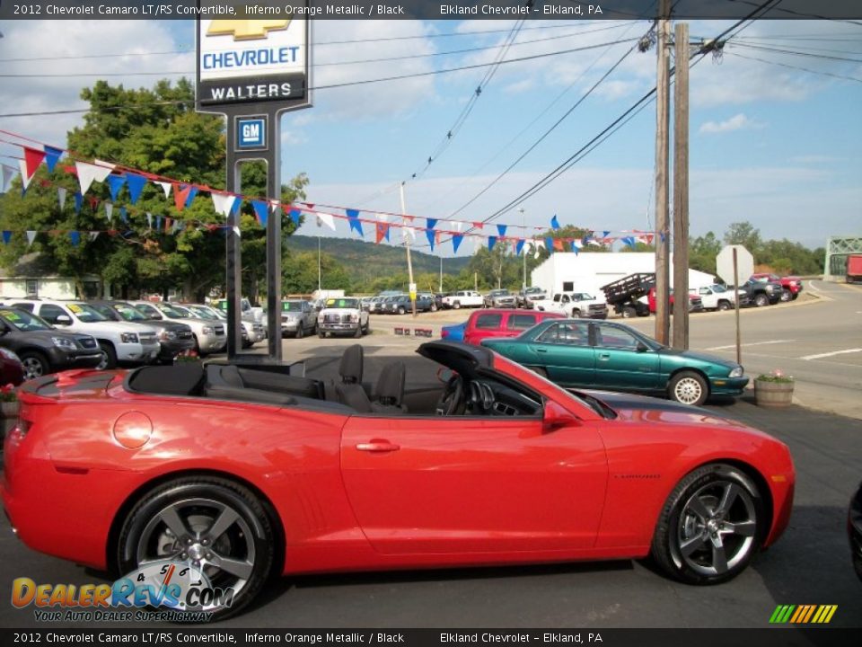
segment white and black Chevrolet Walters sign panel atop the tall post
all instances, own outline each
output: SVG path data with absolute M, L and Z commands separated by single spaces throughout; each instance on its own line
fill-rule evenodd
M 307 103 L 309 28 L 293 16 L 198 20 L 198 105 Z

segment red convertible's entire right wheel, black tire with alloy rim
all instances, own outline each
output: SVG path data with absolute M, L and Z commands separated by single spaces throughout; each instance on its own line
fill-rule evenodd
M 667 498 L 651 554 L 675 580 L 718 584 L 743 572 L 768 524 L 761 493 L 747 474 L 733 465 L 704 465 Z

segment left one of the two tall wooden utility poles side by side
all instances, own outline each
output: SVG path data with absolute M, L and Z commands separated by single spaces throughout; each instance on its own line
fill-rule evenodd
M 668 224 L 668 130 L 670 125 L 671 62 L 670 0 L 661 0 L 657 34 L 655 81 L 655 339 L 670 341 L 670 239 Z

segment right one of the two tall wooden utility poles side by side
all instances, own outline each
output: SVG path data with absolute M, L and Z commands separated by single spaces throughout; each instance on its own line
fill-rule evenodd
M 673 33 L 673 348 L 689 348 L 689 24 Z

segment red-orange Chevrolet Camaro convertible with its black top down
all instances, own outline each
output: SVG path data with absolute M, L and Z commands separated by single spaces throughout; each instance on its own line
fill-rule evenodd
M 75 563 L 198 569 L 232 590 L 230 607 L 201 602 L 216 617 L 300 572 L 652 554 L 717 583 L 787 526 L 793 462 L 759 430 L 570 393 L 486 348 L 418 352 L 445 381 L 410 397 L 400 361 L 363 386 L 359 346 L 333 383 L 216 364 L 32 380 L 4 446 L 6 513 Z

